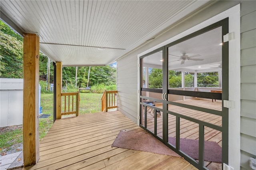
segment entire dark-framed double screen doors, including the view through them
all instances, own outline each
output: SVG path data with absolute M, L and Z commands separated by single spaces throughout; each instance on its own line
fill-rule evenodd
M 228 19 L 140 57 L 140 126 L 199 169 L 228 164 L 226 33 Z

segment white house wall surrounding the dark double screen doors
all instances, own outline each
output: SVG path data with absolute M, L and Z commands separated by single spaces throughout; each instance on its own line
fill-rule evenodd
M 239 12 L 238 14 L 234 14 L 235 17 L 230 17 L 230 20 L 233 20 L 233 25 L 230 26 L 240 27 L 241 34 L 238 32 L 237 35 L 237 31 L 235 32 L 236 43 L 230 42 L 230 46 L 234 47 L 236 50 L 231 49 L 229 53 L 236 54 L 236 60 L 230 60 L 230 67 L 239 67 L 240 58 L 237 60 L 237 57 L 240 57 L 240 48 L 237 45 L 240 45 L 241 43 L 241 80 L 234 80 L 237 79 L 237 76 L 240 76 L 240 68 L 235 68 L 236 71 L 238 70 L 238 74 L 236 76 L 230 72 L 230 79 L 231 81 L 234 81 L 235 84 L 233 84 L 234 87 L 231 87 L 229 90 L 229 100 L 236 100 L 236 102 L 235 108 L 231 108 L 229 112 L 229 164 L 235 169 L 250 169 L 249 158 L 256 158 L 256 1 L 216 2 L 188 20 L 180 21 L 179 24 L 170 26 L 170 29 L 165 33 L 119 59 L 117 61 L 117 88 L 118 93 L 121 95 L 118 98 L 118 108 L 128 117 L 132 117 L 131 119 L 134 122 L 138 123 L 137 117 L 139 101 L 138 84 L 136 83 L 138 83 L 139 54 L 141 56 L 153 49 L 162 47 L 165 45 L 164 41 L 167 41 L 168 39 L 179 35 L 179 33 L 182 33 L 183 31 L 186 31 L 187 29 L 190 29 L 193 26 L 228 10 L 236 4 L 241 5 L 241 12 L 240 14 Z M 216 22 L 217 21 L 218 20 L 216 20 Z M 230 28 L 230 32 L 233 32 L 232 27 Z M 135 72 L 136 69 L 137 72 Z M 235 114 L 232 115 L 231 112 Z

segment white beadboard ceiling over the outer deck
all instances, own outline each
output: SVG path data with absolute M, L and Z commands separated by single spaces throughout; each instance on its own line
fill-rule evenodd
M 21 35 L 38 34 L 40 50 L 54 62 L 99 66 L 112 63 L 207 2 L 1 0 L 0 17 Z

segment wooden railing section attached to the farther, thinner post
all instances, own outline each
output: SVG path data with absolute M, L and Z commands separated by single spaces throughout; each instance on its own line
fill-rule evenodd
M 64 101 L 62 104 L 62 112 L 61 115 L 69 115 L 69 114 L 76 114 L 79 115 L 79 102 L 80 102 L 80 95 L 79 92 L 68 92 L 68 93 L 61 93 L 61 96 L 64 96 Z M 74 96 L 76 96 L 76 105 L 74 106 Z

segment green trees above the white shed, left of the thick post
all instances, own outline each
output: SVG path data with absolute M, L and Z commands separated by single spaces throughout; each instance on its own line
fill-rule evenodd
M 0 77 L 23 77 L 23 38 L 0 20 Z

